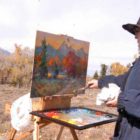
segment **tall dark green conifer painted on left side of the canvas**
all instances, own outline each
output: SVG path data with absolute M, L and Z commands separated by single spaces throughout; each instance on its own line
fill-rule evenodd
M 47 66 L 47 45 L 46 40 L 42 40 L 41 45 L 42 51 L 41 51 L 41 64 L 40 64 L 40 77 L 41 78 L 48 78 L 48 66 Z

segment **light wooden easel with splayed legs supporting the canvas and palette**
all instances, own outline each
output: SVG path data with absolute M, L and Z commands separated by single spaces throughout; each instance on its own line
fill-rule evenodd
M 71 105 L 72 94 L 67 94 L 63 96 L 52 96 L 52 97 L 41 97 L 39 101 L 32 100 L 33 111 L 41 111 L 45 109 L 55 109 L 55 108 L 69 108 Z M 34 129 L 27 131 L 21 134 L 18 138 L 16 138 L 17 130 L 11 128 L 10 132 L 8 132 L 8 140 L 23 140 L 25 137 L 31 135 L 33 133 L 33 140 L 39 140 L 39 132 L 40 129 L 44 126 L 51 124 L 49 121 L 44 121 L 40 117 L 33 116 Z M 61 134 L 63 132 L 64 126 L 60 127 L 58 136 L 56 140 L 60 140 Z M 76 132 L 74 129 L 70 128 L 70 132 L 74 138 L 74 140 L 78 140 Z

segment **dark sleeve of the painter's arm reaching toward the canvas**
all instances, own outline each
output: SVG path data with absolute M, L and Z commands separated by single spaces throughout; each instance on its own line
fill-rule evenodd
M 128 75 L 129 75 L 129 71 L 119 76 L 113 76 L 113 75 L 105 76 L 99 79 L 98 86 L 99 88 L 103 88 L 103 87 L 108 87 L 109 83 L 114 83 L 117 84 L 121 89 L 123 89 Z

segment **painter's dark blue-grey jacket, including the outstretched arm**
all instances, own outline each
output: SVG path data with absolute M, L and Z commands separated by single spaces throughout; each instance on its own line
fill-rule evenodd
M 115 83 L 122 90 L 113 140 L 140 140 L 140 58 L 127 73 L 100 79 L 99 87 L 108 86 L 108 83 Z

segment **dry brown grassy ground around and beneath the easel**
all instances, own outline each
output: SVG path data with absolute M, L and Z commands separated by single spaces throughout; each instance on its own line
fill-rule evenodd
M 10 114 L 5 114 L 5 104 L 12 103 L 18 97 L 28 93 L 30 88 L 15 88 L 8 85 L 0 85 L 0 140 L 6 140 L 7 132 L 10 130 Z M 106 106 L 96 106 L 96 95 L 98 89 L 87 89 L 85 94 L 80 94 L 72 98 L 72 106 L 84 106 L 92 109 L 98 109 L 110 113 L 117 114 L 116 108 Z M 79 140 L 109 140 L 113 135 L 115 122 L 97 127 L 92 127 L 85 130 L 76 130 Z M 55 140 L 60 126 L 50 124 L 41 129 L 40 140 Z M 32 140 L 32 136 L 25 140 Z M 65 128 L 61 140 L 73 140 L 73 137 L 68 128 Z

